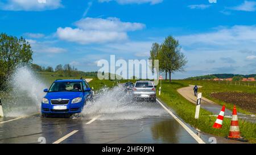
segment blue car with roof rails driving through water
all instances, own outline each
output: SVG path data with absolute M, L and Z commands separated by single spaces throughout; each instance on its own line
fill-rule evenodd
M 82 111 L 87 100 L 93 99 L 93 90 L 85 79 L 60 79 L 44 89 L 47 93 L 42 99 L 42 116 L 64 114 L 71 116 Z

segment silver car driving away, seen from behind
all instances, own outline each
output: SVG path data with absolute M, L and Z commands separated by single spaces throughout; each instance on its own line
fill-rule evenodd
M 133 99 L 156 100 L 156 90 L 152 81 L 137 81 L 133 87 Z

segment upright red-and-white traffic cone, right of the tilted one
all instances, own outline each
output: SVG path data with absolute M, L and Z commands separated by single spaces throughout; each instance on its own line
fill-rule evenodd
M 231 125 L 229 128 L 229 136 L 227 136 L 226 138 L 232 139 L 232 140 L 247 141 L 241 136 L 241 133 L 240 133 L 236 106 L 234 106 L 233 108 Z

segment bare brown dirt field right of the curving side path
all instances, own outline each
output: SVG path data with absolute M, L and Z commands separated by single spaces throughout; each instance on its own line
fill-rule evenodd
M 256 113 L 256 94 L 223 92 L 212 93 L 210 96 L 227 103 L 236 104 L 247 111 Z

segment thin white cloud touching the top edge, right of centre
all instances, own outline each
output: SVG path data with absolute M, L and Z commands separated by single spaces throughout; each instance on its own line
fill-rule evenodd
M 142 3 L 150 3 L 151 5 L 155 5 L 158 3 L 162 3 L 163 0 L 98 0 L 99 2 L 110 2 L 110 1 L 116 1 L 117 3 L 121 5 L 126 4 L 142 4 Z

